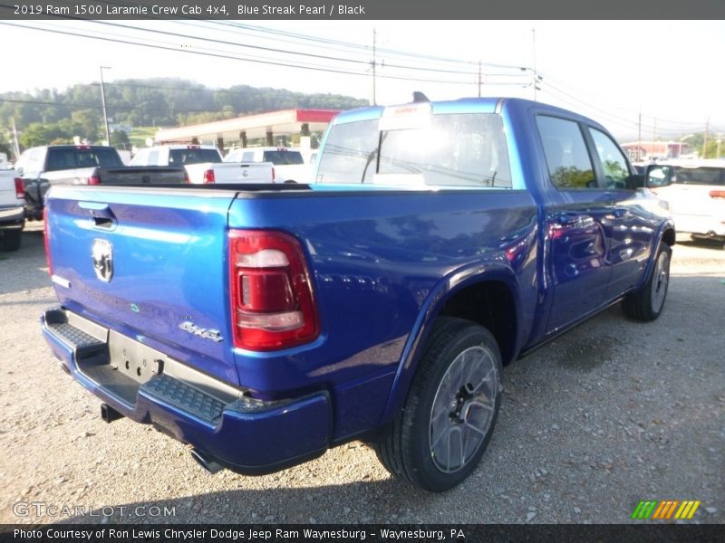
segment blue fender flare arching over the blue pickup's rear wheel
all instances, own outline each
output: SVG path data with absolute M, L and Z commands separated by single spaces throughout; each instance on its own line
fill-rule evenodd
M 517 322 L 522 322 L 522 307 L 517 276 L 506 264 L 501 262 L 477 262 L 453 271 L 441 279 L 423 302 L 418 319 L 416 319 L 411 335 L 406 341 L 405 348 L 403 348 L 388 402 L 379 425 L 391 422 L 401 411 L 408 397 L 413 377 L 420 366 L 420 358 L 425 350 L 426 339 L 430 335 L 433 322 L 445 307 L 446 302 L 459 291 L 488 281 L 503 282 L 507 285 L 515 301 Z M 517 326 L 516 345 L 511 359 L 516 359 L 520 351 L 521 329 L 521 326 Z

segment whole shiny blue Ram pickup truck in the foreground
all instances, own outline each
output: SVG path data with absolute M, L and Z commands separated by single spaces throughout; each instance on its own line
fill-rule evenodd
M 351 440 L 446 491 L 502 367 L 622 302 L 662 311 L 675 240 L 607 131 L 517 99 L 340 114 L 314 183 L 53 186 L 43 334 L 63 369 L 208 471 Z

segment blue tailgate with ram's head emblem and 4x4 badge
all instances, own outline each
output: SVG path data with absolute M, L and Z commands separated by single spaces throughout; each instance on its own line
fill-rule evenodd
M 61 305 L 237 385 L 225 234 L 235 195 L 53 186 L 46 224 Z

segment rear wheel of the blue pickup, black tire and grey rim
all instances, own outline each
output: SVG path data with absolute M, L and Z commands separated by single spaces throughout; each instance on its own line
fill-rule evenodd
M 466 372 L 458 374 L 459 368 Z M 382 465 L 425 491 L 458 485 L 490 441 L 500 379 L 501 355 L 491 333 L 469 320 L 439 318 L 402 413 L 374 443 Z

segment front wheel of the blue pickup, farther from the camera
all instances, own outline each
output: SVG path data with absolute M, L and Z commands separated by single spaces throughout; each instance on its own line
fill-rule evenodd
M 647 282 L 642 289 L 632 292 L 622 301 L 624 315 L 643 322 L 649 322 L 660 316 L 670 284 L 671 260 L 672 247 L 662 242 Z

